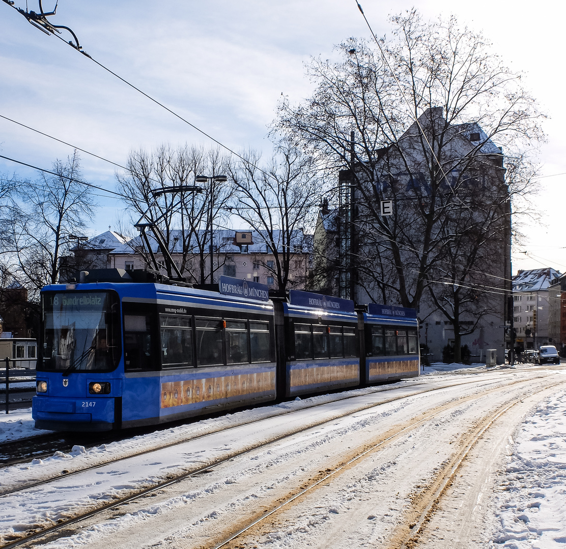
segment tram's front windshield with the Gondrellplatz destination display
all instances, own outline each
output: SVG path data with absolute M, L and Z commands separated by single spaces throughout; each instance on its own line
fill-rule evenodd
M 110 371 L 121 356 L 114 292 L 45 292 L 38 370 Z

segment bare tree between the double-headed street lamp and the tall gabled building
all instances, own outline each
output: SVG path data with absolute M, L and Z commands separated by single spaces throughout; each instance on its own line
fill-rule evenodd
M 311 249 L 315 207 L 323 187 L 311 155 L 302 154 L 290 140 L 278 143 L 268 163 L 249 152 L 245 160 L 230 166 L 235 187 L 231 211 L 255 231 L 273 254 L 273 266 L 263 266 L 277 280 L 281 291 L 289 285 L 291 260 Z M 299 282 L 306 282 L 301 280 Z

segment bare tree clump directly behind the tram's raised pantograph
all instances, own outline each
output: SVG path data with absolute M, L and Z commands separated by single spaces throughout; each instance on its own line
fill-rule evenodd
M 162 145 L 152 153 L 132 151 L 128 171 L 116 175 L 132 224 L 145 213 L 148 221 L 161 230 L 169 252 L 179 254 L 183 276 L 194 282 L 206 282 L 211 223 L 216 226 L 222 223 L 231 193 L 229 185 L 218 184 L 213 179 L 200 192 L 182 187 L 194 186 L 198 175 L 220 174 L 225 163 L 217 149 Z M 170 192 L 175 187 L 181 190 Z M 162 192 L 165 189 L 168 192 Z M 151 262 L 149 250 L 143 245 L 136 251 L 143 254 L 148 264 Z M 165 267 L 171 276 L 172 266 L 166 263 Z

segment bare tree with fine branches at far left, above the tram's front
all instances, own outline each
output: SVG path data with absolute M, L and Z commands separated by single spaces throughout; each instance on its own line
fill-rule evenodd
M 87 228 L 96 207 L 76 151 L 65 163 L 55 161 L 52 171 L 57 175 L 41 172 L 36 181 L 20 186 L 10 219 L 18 278 L 32 297 L 45 284 L 58 282 L 61 257 L 76 245 L 74 237 Z

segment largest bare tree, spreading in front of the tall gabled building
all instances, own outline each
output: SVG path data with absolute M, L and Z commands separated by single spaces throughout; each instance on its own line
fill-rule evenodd
M 313 96 L 299 106 L 284 100 L 275 129 L 300 139 L 321 165 L 351 171 L 355 208 L 340 216 L 357 235 L 355 297 L 419 308 L 448 261 L 449 242 L 458 243 L 450 224 L 469 208 L 467 185 L 475 174 L 491 181 L 481 191 L 486 205 L 511 201 L 517 210 L 517 198 L 530 191 L 527 152 L 543 139 L 542 115 L 520 75 L 455 18 L 424 22 L 413 10 L 392 23 L 393 36 L 379 47 L 352 38 L 338 46 L 338 62 L 312 60 Z M 504 180 L 509 167 L 516 177 Z M 382 200 L 393 200 L 392 215 L 381 215 Z M 492 219 L 501 223 L 500 215 L 511 227 L 511 208 Z M 458 230 L 473 234 L 470 222 Z M 490 234 L 492 227 L 483 230 Z M 499 237 L 508 256 L 511 235 Z M 470 269 L 482 270 L 479 257 Z M 500 293 L 510 284 L 504 263 L 497 266 Z

